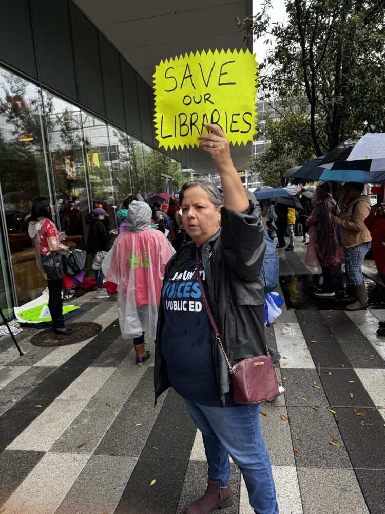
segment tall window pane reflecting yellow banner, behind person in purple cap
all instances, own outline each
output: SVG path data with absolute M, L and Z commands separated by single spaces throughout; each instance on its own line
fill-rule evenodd
M 108 214 L 109 228 L 115 228 L 115 188 L 112 182 L 112 168 L 117 160 L 117 152 L 109 152 L 109 137 L 107 125 L 82 111 L 84 145 L 88 176 L 91 186 L 92 208 L 102 207 Z M 117 143 L 116 143 L 117 144 Z

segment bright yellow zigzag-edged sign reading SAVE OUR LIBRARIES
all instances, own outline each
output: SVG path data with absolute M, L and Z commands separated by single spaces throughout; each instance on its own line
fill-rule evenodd
M 204 123 L 219 125 L 230 143 L 255 134 L 257 63 L 249 50 L 192 52 L 161 61 L 153 74 L 159 146 L 198 146 Z

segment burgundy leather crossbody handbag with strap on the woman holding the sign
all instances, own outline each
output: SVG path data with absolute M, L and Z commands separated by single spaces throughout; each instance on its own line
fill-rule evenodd
M 214 321 L 213 314 L 208 306 L 206 295 L 202 285 L 202 279 L 199 272 L 198 250 L 195 248 L 195 258 L 197 262 L 198 283 L 201 289 L 202 300 L 207 310 L 207 315 L 213 327 L 217 343 L 221 347 L 224 358 L 226 359 L 230 376 L 232 380 L 233 401 L 235 403 L 261 403 L 262 401 L 270 401 L 277 398 L 283 388 L 278 389 L 277 376 L 275 374 L 274 365 L 270 358 L 268 348 L 266 346 L 266 354 L 262 357 L 251 357 L 243 359 L 235 366 L 232 366 L 227 354 L 224 350 L 221 335 L 219 334 L 217 325 Z

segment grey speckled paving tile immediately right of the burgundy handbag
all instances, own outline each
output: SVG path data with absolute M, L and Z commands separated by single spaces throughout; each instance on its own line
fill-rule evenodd
M 297 407 L 329 405 L 322 387 L 319 389 L 314 387 L 314 382 L 320 385 L 315 369 L 284 368 L 281 370 L 281 376 L 286 378 L 282 380 L 283 387 L 286 389 L 286 405 Z

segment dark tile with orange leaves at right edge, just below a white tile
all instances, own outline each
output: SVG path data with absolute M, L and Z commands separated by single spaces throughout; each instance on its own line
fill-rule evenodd
M 336 421 L 353 468 L 384 469 L 384 423 L 379 411 L 367 407 L 334 407 Z

